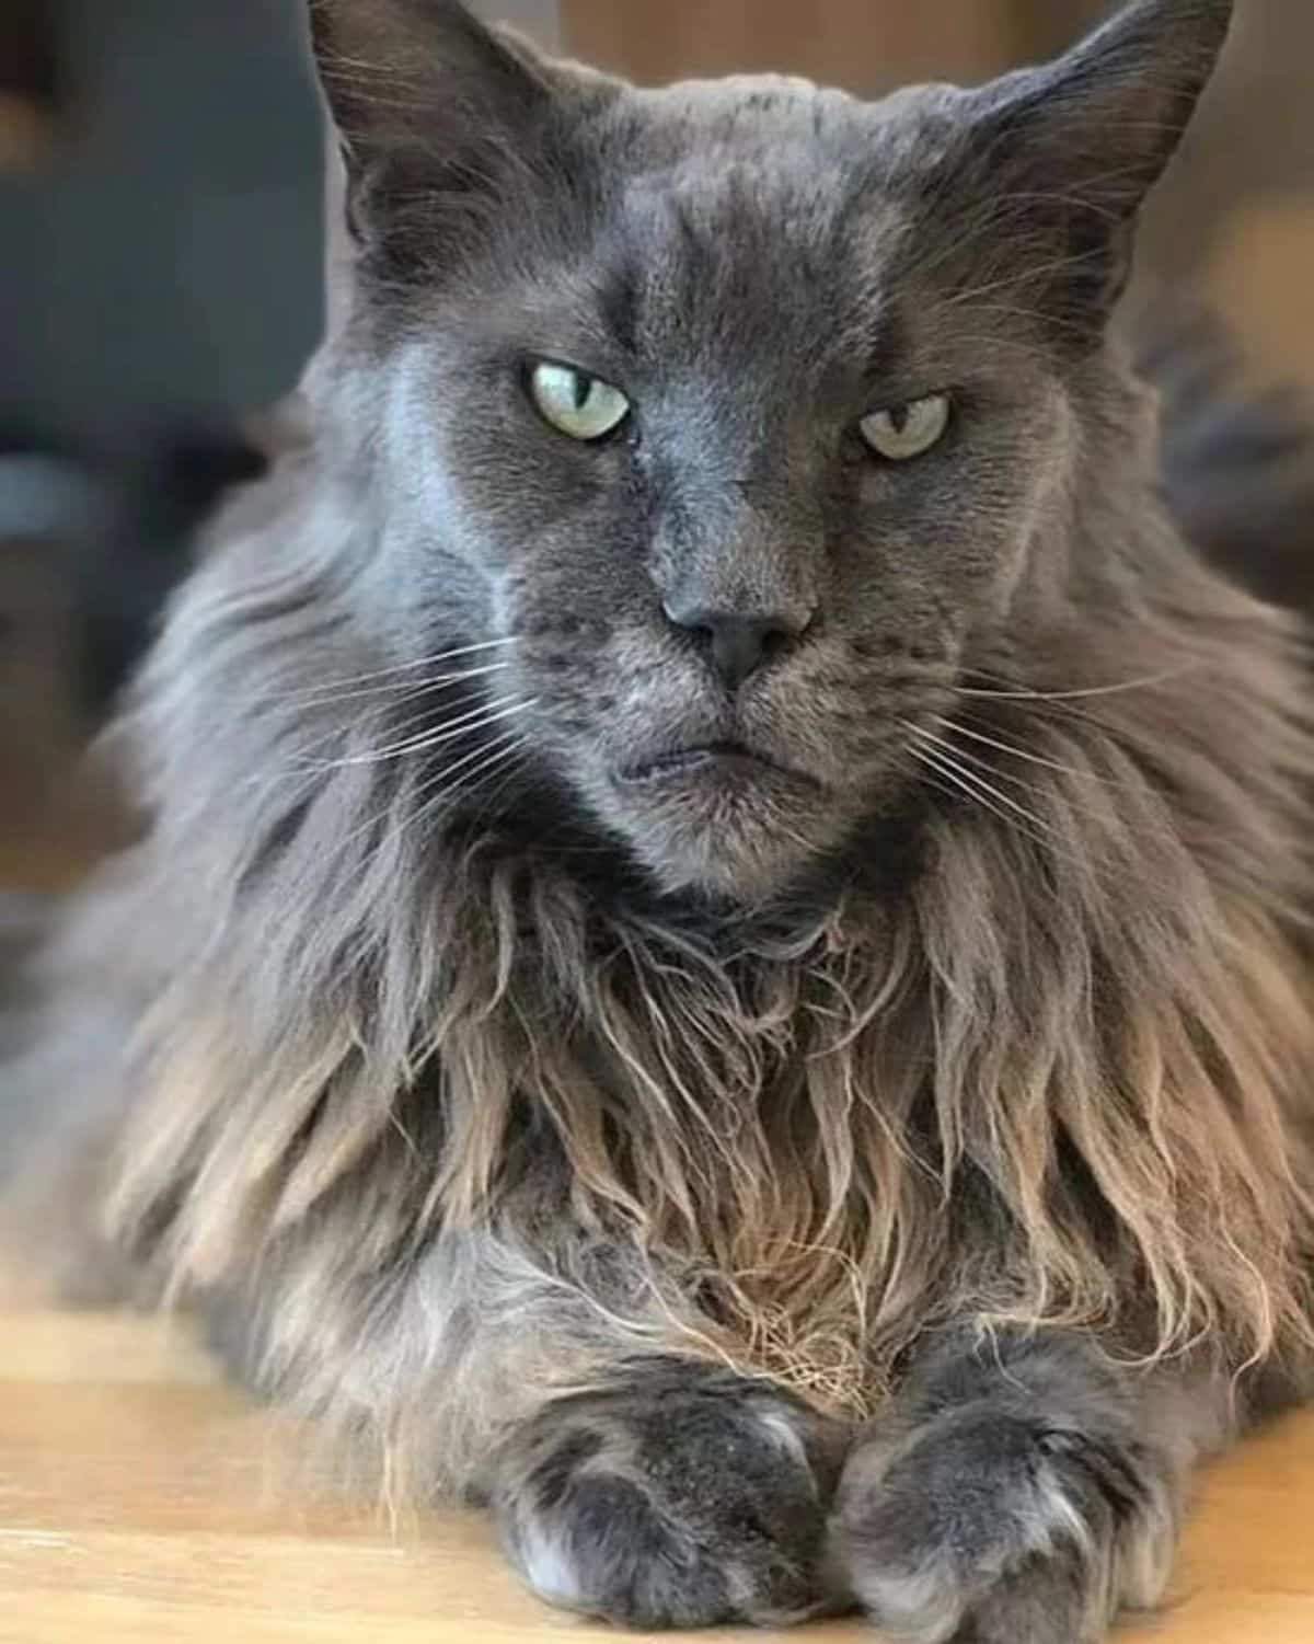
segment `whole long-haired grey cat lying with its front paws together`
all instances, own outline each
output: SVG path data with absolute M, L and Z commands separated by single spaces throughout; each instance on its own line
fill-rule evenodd
M 312 8 L 350 316 L 8 1078 L 548 1600 L 1094 1641 L 1309 1384 L 1307 658 L 1110 327 L 1230 12 L 865 104 Z

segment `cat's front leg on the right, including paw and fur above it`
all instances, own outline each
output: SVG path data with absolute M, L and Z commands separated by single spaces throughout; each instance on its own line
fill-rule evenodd
M 1094 1644 L 1164 1593 L 1230 1378 L 1112 1365 L 1080 1335 L 946 1340 L 854 1447 L 832 1526 L 872 1621 L 916 1644 Z

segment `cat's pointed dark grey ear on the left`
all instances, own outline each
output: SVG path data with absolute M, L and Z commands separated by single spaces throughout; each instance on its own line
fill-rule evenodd
M 311 0 L 311 39 L 362 258 L 424 281 L 531 182 L 562 89 L 459 0 Z

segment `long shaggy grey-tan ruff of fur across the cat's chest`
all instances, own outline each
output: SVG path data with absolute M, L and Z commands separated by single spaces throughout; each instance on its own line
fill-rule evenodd
M 1298 758 L 1299 699 L 1263 686 L 1228 699 L 1237 746 L 1281 730 Z M 158 1236 L 168 1203 L 164 1266 L 204 1287 L 326 1218 L 322 1259 L 367 1291 L 485 1230 L 636 1337 L 664 1297 L 686 1346 L 857 1407 L 964 1310 L 1140 1353 L 1299 1335 L 1314 1042 L 1268 855 L 1296 768 L 1224 784 L 1187 760 L 1169 784 L 1146 692 L 1179 722 L 1196 700 L 1169 672 L 1099 712 L 1002 702 L 1029 820 L 932 807 L 893 883 L 855 873 L 824 914 L 709 927 L 416 830 L 424 894 L 362 965 L 372 843 L 335 868 L 286 843 L 261 896 L 329 868 L 308 909 L 357 898 L 352 967 L 289 929 L 255 972 L 238 944 L 179 977 L 143 1046 L 120 1228 Z M 253 988 L 285 1001 L 263 1036 Z

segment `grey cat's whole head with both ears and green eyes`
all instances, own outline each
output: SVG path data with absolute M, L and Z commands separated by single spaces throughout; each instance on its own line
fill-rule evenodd
M 507 641 L 534 758 L 669 888 L 770 896 L 896 806 L 1146 483 L 1107 322 L 1230 12 L 862 102 L 319 0 L 359 245 L 319 376 L 393 631 Z

